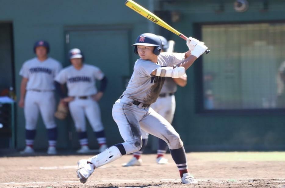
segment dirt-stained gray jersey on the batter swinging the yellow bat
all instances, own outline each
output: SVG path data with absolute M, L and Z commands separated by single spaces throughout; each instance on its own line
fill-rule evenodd
M 163 52 L 158 56 L 157 64 L 138 59 L 123 95 L 142 103 L 154 103 L 161 92 L 165 77 L 153 76 L 151 73 L 160 66 L 174 66 L 184 58 L 185 53 Z

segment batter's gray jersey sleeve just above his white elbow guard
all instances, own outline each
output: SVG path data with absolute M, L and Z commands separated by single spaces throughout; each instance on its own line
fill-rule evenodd
M 151 61 L 141 60 L 139 61 L 134 70 L 137 71 L 142 76 L 151 76 L 151 73 L 156 70 L 160 65 L 153 63 Z

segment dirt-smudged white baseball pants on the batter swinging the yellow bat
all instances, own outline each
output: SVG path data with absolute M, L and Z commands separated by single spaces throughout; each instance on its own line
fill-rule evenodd
M 142 107 L 142 103 L 133 104 L 133 99 L 123 96 L 118 99 L 112 110 L 114 121 L 117 123 L 126 154 L 139 151 L 142 147 L 141 130 L 164 140 L 170 149 L 183 146 L 179 134 L 171 124 L 152 108 Z

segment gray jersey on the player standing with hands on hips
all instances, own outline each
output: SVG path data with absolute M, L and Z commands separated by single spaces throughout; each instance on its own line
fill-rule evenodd
M 55 81 L 67 83 L 68 96 L 86 96 L 97 93 L 96 80 L 102 80 L 104 73 L 93 65 L 83 64 L 80 70 L 68 66 L 56 76 Z

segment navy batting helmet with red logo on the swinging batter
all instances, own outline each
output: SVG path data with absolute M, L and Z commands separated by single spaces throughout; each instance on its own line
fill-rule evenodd
M 137 40 L 135 41 L 135 44 L 132 46 L 135 46 L 135 54 L 138 53 L 138 47 L 137 45 L 142 45 L 142 46 L 155 46 L 153 53 L 155 55 L 159 55 L 161 51 L 161 40 L 160 38 L 152 33 L 144 33 L 138 36 Z

